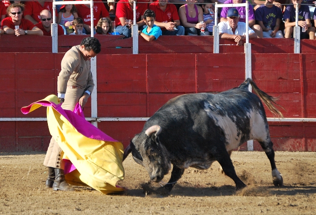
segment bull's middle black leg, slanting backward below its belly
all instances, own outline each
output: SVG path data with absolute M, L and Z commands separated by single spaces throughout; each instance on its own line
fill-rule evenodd
M 231 153 L 228 153 L 225 148 L 217 153 L 216 160 L 222 166 L 225 175 L 234 180 L 236 188 L 239 190 L 246 187 L 246 184 L 238 178 L 230 154 Z

